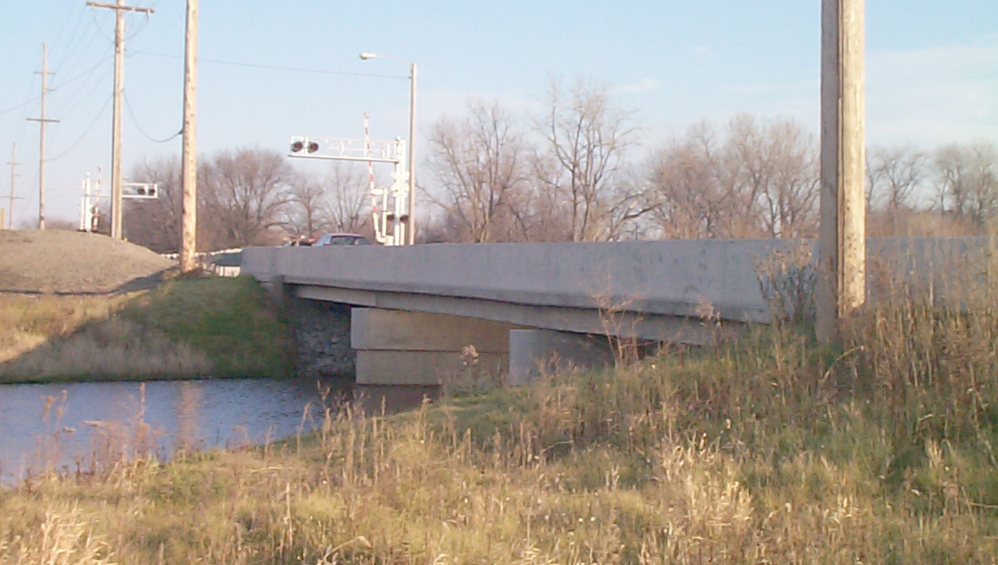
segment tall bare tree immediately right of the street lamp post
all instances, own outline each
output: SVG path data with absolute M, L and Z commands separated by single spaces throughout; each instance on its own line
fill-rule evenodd
M 434 202 L 448 231 L 475 243 L 523 239 L 527 153 L 509 113 L 494 101 L 471 101 L 466 118 L 437 122 L 429 142 L 429 169 L 442 190 Z

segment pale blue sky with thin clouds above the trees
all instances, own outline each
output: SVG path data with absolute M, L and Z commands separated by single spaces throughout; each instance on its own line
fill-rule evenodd
M 184 0 L 126 16 L 124 163 L 180 154 Z M 406 137 L 417 153 L 469 97 L 527 114 L 549 77 L 611 85 L 645 149 L 701 120 L 792 116 L 817 130 L 820 0 L 201 0 L 198 149 L 284 151 L 290 135 Z M 75 221 L 80 182 L 110 169 L 114 15 L 85 0 L 0 0 L 0 164 L 18 147 L 16 219 L 38 210 L 42 43 L 48 44 L 46 212 Z M 297 72 L 309 69 L 322 72 Z M 998 143 L 998 2 L 867 0 L 867 142 Z M 423 154 L 424 155 L 424 154 Z M 419 156 L 417 155 L 417 160 Z M 0 197 L 10 190 L 0 168 Z M 6 207 L 6 199 L 0 200 Z

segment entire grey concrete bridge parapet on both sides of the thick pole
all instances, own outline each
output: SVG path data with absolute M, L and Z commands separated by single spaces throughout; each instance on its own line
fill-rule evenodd
M 710 311 L 725 320 L 766 323 L 773 312 L 759 283 L 759 263 L 773 254 L 799 257 L 803 249 L 809 256 L 805 262 L 813 266 L 813 246 L 788 240 L 677 240 L 249 248 L 242 269 L 261 282 L 358 294 L 394 292 L 695 319 Z M 957 282 L 980 278 L 993 249 L 987 238 L 869 239 L 869 294 L 881 299 L 891 287 L 906 286 L 943 297 Z

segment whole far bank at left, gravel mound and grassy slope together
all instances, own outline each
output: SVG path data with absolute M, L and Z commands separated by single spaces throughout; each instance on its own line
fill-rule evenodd
M 0 383 L 288 375 L 293 337 L 250 279 L 96 234 L 0 231 Z

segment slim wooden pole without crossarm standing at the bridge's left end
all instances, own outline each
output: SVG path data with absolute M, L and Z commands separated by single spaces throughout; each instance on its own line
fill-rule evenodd
M 194 271 L 198 253 L 198 155 L 195 145 L 198 80 L 198 0 L 188 0 L 184 39 L 184 148 L 181 160 L 181 273 Z

